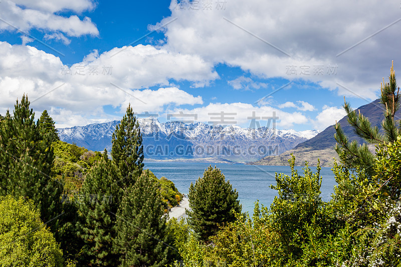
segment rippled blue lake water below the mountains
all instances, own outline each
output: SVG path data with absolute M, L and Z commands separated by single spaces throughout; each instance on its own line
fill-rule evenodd
M 183 163 L 183 162 L 144 162 L 145 169 L 151 170 L 157 178 L 162 176 L 171 180 L 178 191 L 188 194 L 189 185 L 195 183 L 196 179 L 202 177 L 209 163 Z M 212 164 L 214 166 L 214 164 Z M 276 190 L 269 186 L 275 184 L 275 173 L 291 174 L 289 166 L 259 166 L 244 164 L 217 164 L 223 172 L 226 180 L 230 180 L 233 188 L 238 191 L 238 198 L 242 204 L 242 211 L 249 212 L 252 216 L 254 202 L 259 199 L 259 203 L 267 207 L 273 202 Z M 303 175 L 302 167 L 295 167 L 298 174 Z M 315 172 L 315 167 L 310 167 Z M 320 188 L 322 200 L 328 201 L 333 193 L 333 186 L 336 185 L 334 174 L 331 168 L 323 167 L 320 170 L 322 186 Z

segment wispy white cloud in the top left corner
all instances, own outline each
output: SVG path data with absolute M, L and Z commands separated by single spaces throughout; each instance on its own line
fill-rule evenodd
M 85 17 L 81 20 L 76 15 L 68 18 L 56 15 L 57 12 L 64 10 L 81 13 L 93 8 L 94 4 L 87 0 L 3 1 L 0 3 L 0 18 L 2 18 L 0 30 L 17 31 L 15 28 L 18 28 L 25 32 L 41 29 L 55 33 L 62 32 L 71 37 L 98 36 L 99 31 L 90 18 Z

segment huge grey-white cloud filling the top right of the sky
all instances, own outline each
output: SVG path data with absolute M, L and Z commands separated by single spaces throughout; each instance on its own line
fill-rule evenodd
M 399 19 L 399 3 L 390 0 L 231 0 L 225 9 L 198 11 L 171 1 L 170 10 L 160 22 L 178 18 L 166 26 L 169 49 L 263 78 L 301 78 L 339 95 L 375 99 L 391 59 L 401 56 L 401 22 L 372 36 Z

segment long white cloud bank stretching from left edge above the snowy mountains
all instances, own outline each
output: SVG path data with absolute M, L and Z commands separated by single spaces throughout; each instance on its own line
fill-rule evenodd
M 104 117 L 105 105 L 124 111 L 130 102 L 135 112 L 161 112 L 167 105 L 203 104 L 202 97 L 171 86 L 169 80 L 217 77 L 212 66 L 197 56 L 152 46 L 116 48 L 101 55 L 94 51 L 68 67 L 34 47 L 0 42 L 0 113 L 13 109 L 25 93 L 35 110 L 53 110 L 59 125 L 84 125 Z M 148 89 L 153 86 L 163 87 Z

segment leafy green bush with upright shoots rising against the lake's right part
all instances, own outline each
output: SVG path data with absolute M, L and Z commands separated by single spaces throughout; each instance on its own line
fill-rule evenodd
M 332 237 L 343 223 L 320 198 L 320 166 L 318 164 L 317 172 L 313 173 L 306 162 L 301 176 L 294 169 L 294 156 L 289 162 L 291 176 L 276 173 L 276 185 L 271 186 L 278 193 L 268 218 L 279 236 L 274 256 L 281 265 L 291 266 L 295 262 L 304 264 L 300 266 L 334 264 L 340 253 L 336 249 L 342 249 L 342 245 L 327 244 L 334 242 Z

